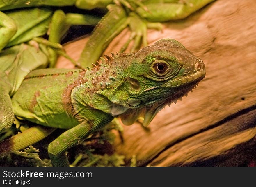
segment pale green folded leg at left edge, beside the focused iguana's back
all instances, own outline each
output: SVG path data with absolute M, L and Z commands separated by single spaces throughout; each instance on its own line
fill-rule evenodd
M 10 96 L 17 91 L 24 77 L 33 69 L 45 68 L 48 60 L 42 51 L 21 44 L 0 52 L 0 132 L 14 120 Z

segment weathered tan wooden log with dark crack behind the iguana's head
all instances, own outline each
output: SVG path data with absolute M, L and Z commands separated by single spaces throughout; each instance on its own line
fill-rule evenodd
M 182 101 L 165 107 L 144 129 L 125 126 L 114 149 L 141 166 L 239 166 L 256 153 L 256 1 L 217 0 L 187 19 L 150 30 L 149 44 L 180 41 L 202 58 L 206 77 Z M 120 48 L 124 31 L 106 49 Z M 78 58 L 86 39 L 65 46 Z M 60 59 L 59 67 L 63 63 Z

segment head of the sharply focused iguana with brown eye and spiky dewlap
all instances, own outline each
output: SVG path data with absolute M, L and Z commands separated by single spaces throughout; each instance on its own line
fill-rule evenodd
M 164 106 L 176 103 L 205 77 L 202 60 L 173 39 L 159 40 L 137 53 L 119 54 L 109 61 L 109 80 L 115 81 L 101 94 L 112 103 L 110 113 L 119 115 L 127 125 L 138 117 L 148 125 Z

